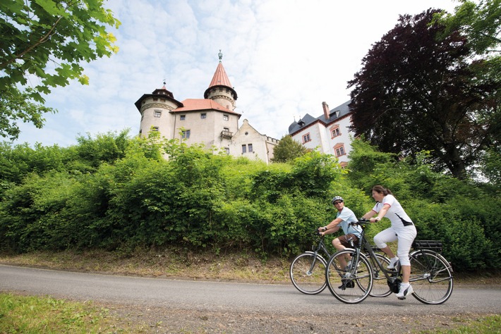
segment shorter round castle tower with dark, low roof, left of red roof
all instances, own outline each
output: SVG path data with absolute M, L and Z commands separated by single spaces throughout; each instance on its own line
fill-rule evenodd
M 164 86 L 155 89 L 152 94 L 143 94 L 135 107 L 141 114 L 139 134 L 147 136 L 151 130 L 159 131 L 162 137 L 170 138 L 174 132 L 174 114 L 170 111 L 183 106 L 174 99 L 174 94 Z

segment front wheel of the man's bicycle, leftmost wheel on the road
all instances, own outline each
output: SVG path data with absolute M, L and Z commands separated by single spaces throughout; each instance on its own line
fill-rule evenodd
M 325 259 L 313 252 L 296 256 L 291 263 L 289 275 L 297 290 L 306 295 L 316 295 L 322 292 L 325 283 Z

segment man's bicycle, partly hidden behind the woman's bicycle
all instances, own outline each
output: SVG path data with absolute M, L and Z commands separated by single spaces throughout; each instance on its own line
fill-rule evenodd
M 289 276 L 292 284 L 297 290 L 306 295 L 317 295 L 327 287 L 327 281 L 325 280 L 327 261 L 321 253 L 325 254 L 327 259 L 330 258 L 331 254 L 325 246 L 324 236 L 320 235 L 318 231 L 315 233 L 315 236 L 319 237 L 318 242 L 316 242 L 317 245 L 313 242 L 312 250 L 296 256 L 289 268 Z M 378 252 L 380 249 L 374 246 L 373 251 Z M 390 264 L 390 259 L 386 256 L 377 253 L 375 253 L 375 256 L 380 263 L 385 265 Z M 385 279 L 384 276 L 380 276 L 378 270 L 375 270 L 374 276 L 376 280 Z M 390 293 L 392 292 L 388 290 L 385 283 L 385 289 L 381 290 L 375 287 L 370 295 L 373 297 L 385 297 L 385 295 L 390 295 Z

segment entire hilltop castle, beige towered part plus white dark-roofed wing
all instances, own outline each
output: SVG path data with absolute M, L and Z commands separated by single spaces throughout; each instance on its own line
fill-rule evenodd
M 140 135 L 159 131 L 161 137 L 179 139 L 186 144 L 202 143 L 207 149 L 222 149 L 231 156 L 270 163 L 279 140 L 261 135 L 248 120 L 239 127 L 240 113 L 235 112 L 236 90 L 219 63 L 203 99 L 178 101 L 164 86 L 152 94 L 143 94 L 135 106 L 141 114 Z M 323 114 L 317 118 L 306 113 L 289 125 L 289 135 L 309 149 L 334 154 L 342 166 L 348 163 L 353 132 L 349 102 L 330 110 L 322 102 Z

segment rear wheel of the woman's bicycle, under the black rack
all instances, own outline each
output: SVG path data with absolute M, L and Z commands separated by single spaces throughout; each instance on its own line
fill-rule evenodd
M 409 254 L 412 295 L 424 304 L 442 304 L 452 294 L 452 271 L 447 260 L 429 249 Z

